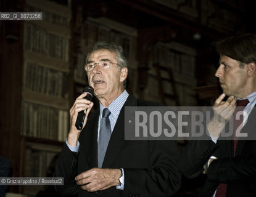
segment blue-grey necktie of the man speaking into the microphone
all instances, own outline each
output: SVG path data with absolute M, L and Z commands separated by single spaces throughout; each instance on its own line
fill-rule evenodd
M 111 136 L 111 126 L 109 121 L 110 111 L 105 108 L 102 113 L 101 126 L 99 129 L 99 142 L 98 142 L 98 167 L 102 167 L 104 161 L 105 151 L 109 144 Z

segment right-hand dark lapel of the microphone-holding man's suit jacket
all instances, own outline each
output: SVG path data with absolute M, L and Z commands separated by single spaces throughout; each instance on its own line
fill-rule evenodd
M 133 96 L 129 95 L 127 98 L 125 105 L 123 105 L 122 110 L 117 119 L 117 123 L 115 124 L 114 130 L 109 140 L 109 145 L 107 147 L 107 151 L 105 153 L 105 158 L 102 164 L 102 167 L 110 167 L 114 159 L 117 157 L 118 152 L 122 148 L 123 142 L 125 142 L 125 107 L 126 106 L 136 106 L 137 99 Z

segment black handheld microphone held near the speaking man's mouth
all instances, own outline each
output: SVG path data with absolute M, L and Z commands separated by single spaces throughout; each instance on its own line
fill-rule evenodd
M 94 94 L 94 89 L 91 86 L 86 86 L 83 89 L 83 92 L 87 92 L 87 95 L 84 97 L 87 100 L 92 100 L 93 99 L 93 94 Z M 85 111 L 80 111 L 77 115 L 76 122 L 75 122 L 75 127 L 78 130 L 81 130 L 83 128 L 83 123 L 85 121 Z

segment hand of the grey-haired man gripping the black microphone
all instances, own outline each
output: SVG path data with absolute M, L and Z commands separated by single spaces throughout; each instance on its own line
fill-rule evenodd
M 78 112 L 85 111 L 85 122 L 83 124 L 83 128 L 86 125 L 87 118 L 89 115 L 89 112 L 91 111 L 91 108 L 93 108 L 93 102 L 85 99 L 84 97 L 88 93 L 84 92 L 79 97 L 76 98 L 75 103 L 73 104 L 72 108 L 70 109 L 70 131 L 68 133 L 68 139 L 67 142 L 70 146 L 75 147 L 78 137 L 80 135 L 81 130 L 76 129 L 75 122 L 78 115 Z

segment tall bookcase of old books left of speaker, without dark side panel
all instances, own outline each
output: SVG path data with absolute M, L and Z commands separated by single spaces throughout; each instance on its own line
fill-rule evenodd
M 44 20 L 25 21 L 23 25 L 20 175 L 46 177 L 69 127 L 72 11 L 69 4 L 47 0 L 25 0 L 24 10 L 43 12 Z M 30 196 L 42 189 L 20 187 Z

